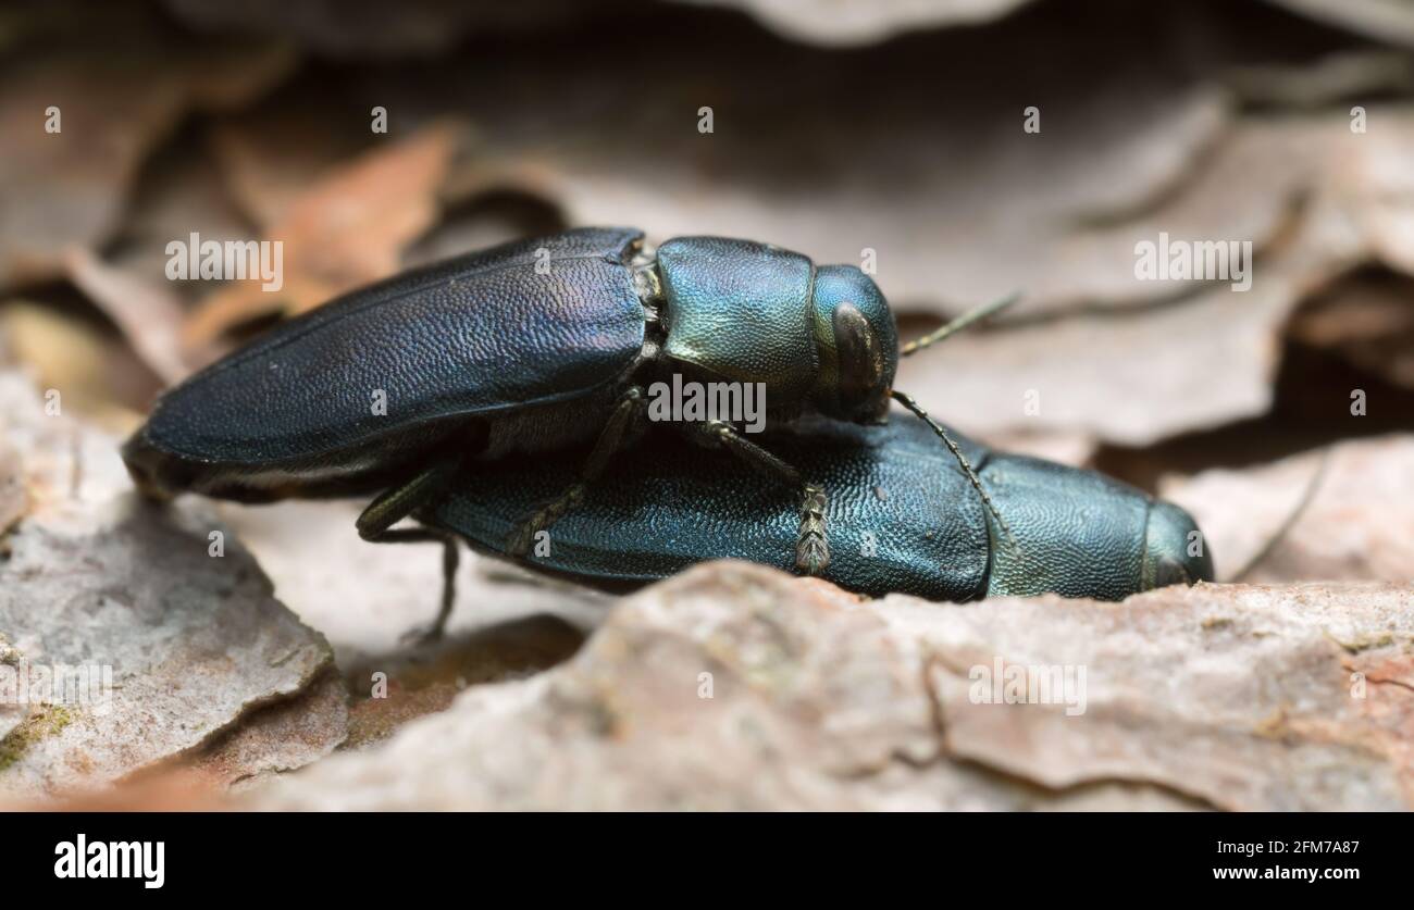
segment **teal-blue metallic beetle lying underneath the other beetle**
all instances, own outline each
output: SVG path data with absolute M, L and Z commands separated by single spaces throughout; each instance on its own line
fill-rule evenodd
M 1094 471 L 954 438 L 1011 516 L 1015 547 L 966 496 L 959 463 L 922 424 L 816 421 L 772 434 L 775 451 L 833 490 L 826 579 L 871 596 L 950 602 L 1046 592 L 1120 601 L 1213 581 L 1212 554 L 1178 506 Z M 672 437 L 646 441 L 632 466 L 607 475 L 525 557 L 503 547 L 512 517 L 573 476 L 571 455 L 465 471 L 419 519 L 481 552 L 611 591 L 714 558 L 793 568 L 782 547 L 793 534 L 792 503 L 759 475 L 734 465 L 713 471 L 708 458 Z

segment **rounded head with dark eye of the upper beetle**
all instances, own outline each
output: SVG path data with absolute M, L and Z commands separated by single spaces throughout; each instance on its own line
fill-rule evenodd
M 860 424 L 882 422 L 898 372 L 898 329 L 878 287 L 854 266 L 822 266 L 812 317 L 822 413 Z

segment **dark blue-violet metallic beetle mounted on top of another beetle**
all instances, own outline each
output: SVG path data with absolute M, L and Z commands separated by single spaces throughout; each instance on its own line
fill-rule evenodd
M 523 555 L 643 435 L 645 384 L 686 376 L 764 383 L 772 425 L 816 414 L 872 424 L 898 400 L 1010 534 L 962 449 L 892 387 L 901 355 L 1010 301 L 899 349 L 888 302 L 853 266 L 817 267 L 751 240 L 677 237 L 656 252 L 642 240 L 635 229 L 568 230 L 346 294 L 168 390 L 123 459 L 154 497 L 376 495 L 356 523 L 365 540 L 441 541 L 452 568 L 451 536 L 393 526 L 465 462 L 592 442 L 575 475 L 508 528 L 505 550 Z M 826 488 L 730 420 L 683 427 L 793 490 L 788 550 L 799 569 L 824 571 Z M 450 598 L 448 575 L 444 613 Z

